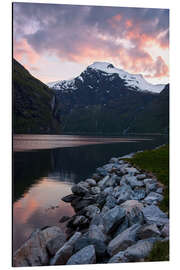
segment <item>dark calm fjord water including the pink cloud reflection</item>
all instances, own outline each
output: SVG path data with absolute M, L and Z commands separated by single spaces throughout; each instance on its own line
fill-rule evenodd
M 26 146 L 35 140 L 33 135 L 22 144 Z M 37 228 L 57 225 L 64 229 L 59 219 L 72 216 L 70 204 L 61 198 L 71 193 L 73 183 L 85 180 L 96 168 L 106 164 L 111 157 L 119 157 L 131 152 L 152 149 L 168 142 L 167 136 L 140 136 L 90 138 L 81 136 L 81 142 L 72 145 L 69 136 L 58 136 L 61 145 L 43 141 L 43 135 L 36 138 L 36 147 L 21 147 L 13 154 L 13 250 L 17 250 L 29 235 Z M 89 138 L 89 139 L 88 139 Z M 144 139 L 144 140 L 143 140 Z M 69 147 L 68 147 L 69 141 Z M 93 142 L 92 142 L 93 141 Z M 98 144 L 99 142 L 99 144 Z M 43 144 L 42 144 L 43 143 Z M 96 144 L 94 144 L 96 143 Z M 34 144 L 33 144 L 34 145 Z M 45 149 L 43 149 L 45 148 Z M 48 148 L 48 149 L 47 149 Z M 26 151 L 25 151 L 26 150 Z

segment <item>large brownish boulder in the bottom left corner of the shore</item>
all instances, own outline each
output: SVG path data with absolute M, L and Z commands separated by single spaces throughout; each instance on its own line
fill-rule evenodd
M 15 252 L 13 256 L 13 266 L 47 265 L 49 262 L 49 255 L 46 249 L 47 243 L 51 239 L 55 239 L 58 235 L 62 237 L 62 230 L 56 226 L 34 232 Z

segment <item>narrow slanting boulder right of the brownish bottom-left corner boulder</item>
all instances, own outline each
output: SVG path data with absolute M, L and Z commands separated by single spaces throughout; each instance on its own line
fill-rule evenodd
M 50 265 L 64 265 L 73 254 L 76 241 L 81 237 L 80 232 L 76 232 L 55 254 L 51 259 Z

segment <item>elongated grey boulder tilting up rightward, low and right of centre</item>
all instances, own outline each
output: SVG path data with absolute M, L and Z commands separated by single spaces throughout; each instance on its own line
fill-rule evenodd
M 109 244 L 107 251 L 112 256 L 115 255 L 119 251 L 123 251 L 127 249 L 129 246 L 135 244 L 137 239 L 137 233 L 140 230 L 141 225 L 134 224 L 130 228 L 126 229 L 119 235 L 117 235 L 114 239 L 112 239 Z

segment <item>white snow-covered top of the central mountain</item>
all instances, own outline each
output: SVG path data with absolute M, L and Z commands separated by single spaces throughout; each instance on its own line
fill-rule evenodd
M 147 82 L 141 74 L 130 74 L 107 62 L 94 62 L 92 65 L 88 66 L 80 76 L 74 79 L 57 81 L 48 83 L 47 85 L 50 88 L 61 90 L 63 92 L 72 92 L 78 90 L 80 85 L 86 83 L 88 76 L 91 78 L 92 74 L 94 75 L 95 73 L 97 73 L 97 81 L 94 81 L 95 84 L 103 82 L 103 79 L 106 81 L 109 79 L 109 81 L 113 83 L 114 79 L 117 80 L 118 77 L 120 83 L 122 84 L 123 82 L 124 86 L 128 87 L 130 90 L 160 93 L 165 87 L 164 84 L 151 84 Z M 101 75 L 100 80 L 98 80 L 98 74 Z M 93 89 L 94 85 L 91 84 L 89 87 Z

